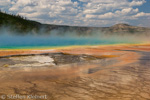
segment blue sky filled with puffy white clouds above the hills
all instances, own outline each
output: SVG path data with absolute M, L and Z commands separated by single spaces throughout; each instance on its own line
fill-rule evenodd
M 150 27 L 150 0 L 0 0 L 0 9 L 46 24 Z

